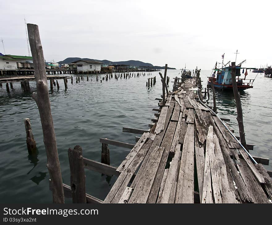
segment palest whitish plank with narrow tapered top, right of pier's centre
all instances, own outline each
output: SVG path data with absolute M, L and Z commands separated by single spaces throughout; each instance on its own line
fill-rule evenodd
M 210 157 L 214 152 L 214 138 L 213 138 L 213 127 L 209 127 L 207 141 L 206 141 L 206 153 L 205 153 L 205 166 L 204 166 L 204 178 L 203 178 L 203 191 L 201 203 L 214 203 L 212 193 L 212 177 L 211 177 L 211 165 Z M 217 194 L 217 193 L 216 193 Z

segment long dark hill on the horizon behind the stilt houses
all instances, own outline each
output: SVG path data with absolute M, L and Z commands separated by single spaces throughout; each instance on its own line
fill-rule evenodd
M 112 61 L 109 61 L 107 59 L 98 60 L 98 59 L 79 58 L 79 57 L 69 57 L 67 59 L 64 59 L 63 61 L 59 61 L 58 63 L 59 64 L 69 64 L 69 63 L 72 63 L 72 62 L 80 60 L 80 59 L 83 59 L 83 60 L 94 60 L 94 61 L 98 61 L 98 62 L 104 63 L 105 65 L 125 64 L 125 65 L 136 66 L 136 67 L 139 67 L 139 66 L 153 67 L 153 65 L 151 63 L 144 63 L 144 62 L 138 61 L 138 60 L 128 60 L 128 61 L 112 62 Z M 156 68 L 156 69 L 164 69 L 164 67 L 160 67 L 160 66 L 155 66 L 154 68 Z M 175 68 L 168 67 L 168 69 L 175 69 Z

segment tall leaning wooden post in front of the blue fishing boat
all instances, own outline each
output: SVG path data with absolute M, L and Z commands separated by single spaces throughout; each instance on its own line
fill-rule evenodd
M 235 62 L 232 62 L 232 89 L 233 89 L 233 94 L 235 97 L 236 101 L 236 108 L 237 108 L 237 121 L 238 121 L 238 126 L 239 126 L 239 134 L 240 134 L 240 141 L 241 144 L 244 146 L 246 150 L 248 150 L 246 141 L 245 141 L 245 136 L 244 136 L 244 123 L 243 123 L 243 110 L 241 106 L 241 99 L 240 99 L 240 93 L 238 92 L 237 84 L 236 84 L 236 67 L 235 67 Z

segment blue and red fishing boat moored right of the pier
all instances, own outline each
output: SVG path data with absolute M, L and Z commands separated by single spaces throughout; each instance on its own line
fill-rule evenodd
M 244 62 L 245 62 L 245 60 L 242 63 L 244 63 Z M 248 74 L 247 70 L 248 69 L 255 69 L 255 68 L 241 67 L 242 63 L 239 63 L 235 67 L 236 68 L 236 72 L 235 72 L 236 83 L 237 83 L 237 88 L 239 91 L 244 91 L 246 89 L 253 88 L 253 82 L 255 80 L 255 79 L 253 79 L 253 80 L 252 79 L 245 79 Z M 213 82 L 214 87 L 217 89 L 220 89 L 223 91 L 227 91 L 227 90 L 232 91 L 232 75 L 231 75 L 232 68 L 231 68 L 231 66 L 222 67 L 221 69 L 217 69 L 216 65 L 217 65 L 217 63 L 215 64 L 215 69 L 214 69 L 215 70 L 214 75 L 217 72 L 216 77 L 213 77 L 213 76 L 208 77 L 208 82 L 207 82 L 208 85 L 211 85 L 211 82 Z M 222 65 L 223 65 L 223 63 L 222 63 Z M 244 73 L 244 77 L 241 76 L 241 69 L 243 70 L 243 73 L 244 73 L 244 70 L 246 70 Z

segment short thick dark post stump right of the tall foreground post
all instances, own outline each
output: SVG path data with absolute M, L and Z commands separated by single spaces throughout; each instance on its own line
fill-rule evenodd
M 74 149 L 68 149 L 70 164 L 70 182 L 73 203 L 86 203 L 85 173 L 82 156 L 82 148 L 76 145 Z

